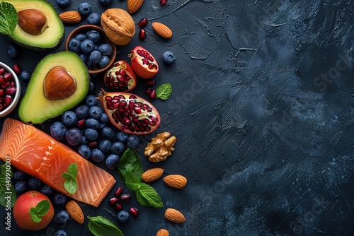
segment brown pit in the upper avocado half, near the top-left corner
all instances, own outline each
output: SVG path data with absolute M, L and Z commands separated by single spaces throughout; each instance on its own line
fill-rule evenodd
M 45 13 L 36 9 L 18 11 L 18 26 L 31 35 L 40 35 L 47 28 L 48 20 Z

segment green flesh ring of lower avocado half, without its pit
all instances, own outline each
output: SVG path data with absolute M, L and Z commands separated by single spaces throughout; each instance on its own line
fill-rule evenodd
M 44 91 L 45 78 L 57 66 L 64 68 L 74 78 L 76 90 L 67 98 L 49 100 Z M 85 98 L 88 91 L 89 71 L 76 53 L 64 51 L 49 54 L 35 67 L 21 100 L 18 115 L 25 123 L 40 124 L 72 109 Z

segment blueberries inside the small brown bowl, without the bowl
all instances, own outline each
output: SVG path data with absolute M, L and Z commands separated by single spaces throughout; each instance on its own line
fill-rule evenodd
M 104 68 L 113 53 L 113 48 L 108 43 L 103 43 L 103 36 L 97 30 L 89 30 L 72 37 L 68 49 L 78 54 L 88 69 Z

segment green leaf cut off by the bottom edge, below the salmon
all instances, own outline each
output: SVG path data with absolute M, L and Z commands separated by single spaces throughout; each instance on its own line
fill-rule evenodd
M 96 236 L 124 236 L 122 231 L 103 216 L 87 216 L 89 230 Z

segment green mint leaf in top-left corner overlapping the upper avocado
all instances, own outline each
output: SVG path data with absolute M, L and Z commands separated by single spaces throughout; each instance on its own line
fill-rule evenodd
M 11 35 L 18 22 L 16 8 L 8 2 L 0 2 L 0 33 Z

